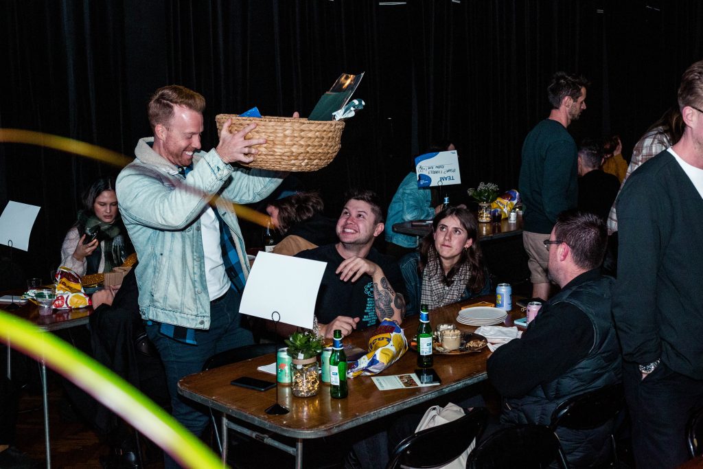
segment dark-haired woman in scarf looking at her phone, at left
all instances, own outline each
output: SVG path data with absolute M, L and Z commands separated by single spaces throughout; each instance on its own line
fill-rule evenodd
M 101 177 L 82 199 L 84 207 L 61 246 L 61 265 L 79 276 L 120 271 L 134 249 L 117 209 L 115 179 Z

